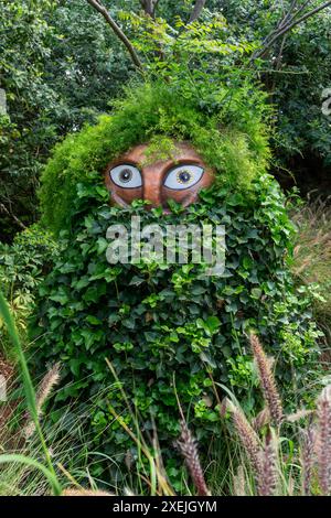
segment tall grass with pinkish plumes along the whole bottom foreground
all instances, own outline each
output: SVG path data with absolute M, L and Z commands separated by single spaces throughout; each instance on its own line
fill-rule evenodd
M 0 447 L 4 452 L 0 454 L 0 464 L 3 464 L 0 470 L 0 494 L 49 494 L 50 488 L 54 495 L 68 496 L 111 494 L 163 496 L 178 493 L 164 471 L 157 430 L 153 431 L 152 443 L 149 444 L 141 432 L 139 416 L 132 411 L 134 427 L 128 427 L 114 411 L 111 400 L 109 400 L 109 412 L 136 443 L 138 451 L 136 461 L 140 470 L 136 472 L 136 483 L 131 478 L 131 488 L 128 488 L 125 482 L 119 485 L 111 484 L 109 479 L 93 475 L 95 462 L 100 461 L 103 466 L 110 466 L 116 464 L 116 460 L 89 450 L 93 441 L 84 435 L 84 419 L 88 419 L 88 416 L 82 416 L 82 422 L 72 422 L 68 427 L 68 416 L 71 416 L 68 408 L 67 414 L 64 412 L 55 427 L 46 427 L 46 432 L 42 430 L 40 421 L 47 419 L 43 417 L 42 408 L 58 381 L 60 367 L 55 365 L 46 373 L 35 391 L 14 322 L 1 293 L 0 314 L 7 323 L 21 367 L 28 409 L 28 418 L 23 416 L 24 424 L 19 427 L 18 438 L 9 433 L 9 438 L 3 440 L 0 434 Z M 286 413 L 270 358 L 266 356 L 256 335 L 249 336 L 249 343 L 265 408 L 254 418 L 248 418 L 231 391 L 215 384 L 215 390 L 217 385 L 217 389 L 221 387 L 223 392 L 227 392 L 223 402 L 218 399 L 221 453 L 218 460 L 213 462 L 214 464 L 220 462 L 222 465 L 222 481 L 215 481 L 215 477 L 213 479 L 207 476 L 210 471 L 201 463 L 199 444 L 183 418 L 179 401 L 181 435 L 178 447 L 191 481 L 189 482 L 189 478 L 184 481 L 181 494 L 211 495 L 220 493 L 222 487 L 222 493 L 227 495 L 330 495 L 331 386 L 324 387 L 314 410 L 299 408 L 295 413 Z M 122 385 L 111 364 L 109 361 L 107 364 L 115 377 L 113 388 L 120 390 L 126 401 Z M 93 404 L 97 404 L 98 399 L 104 397 L 111 398 L 109 387 L 95 396 L 95 401 L 90 402 L 92 413 Z M 130 407 L 129 401 L 127 404 Z M 75 429 L 73 433 L 72 428 Z M 77 429 L 82 429 L 79 441 Z M 10 432 L 10 427 L 8 430 Z M 50 449 L 47 444 L 52 444 L 52 447 Z M 17 450 L 14 453 L 12 453 L 13 447 Z M 124 452 L 119 454 L 124 456 Z M 143 458 L 147 462 L 143 462 Z

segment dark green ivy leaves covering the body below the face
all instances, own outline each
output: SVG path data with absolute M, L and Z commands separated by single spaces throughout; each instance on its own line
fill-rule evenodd
M 305 387 L 308 367 L 317 358 L 318 332 L 309 299 L 296 294 L 288 273 L 286 255 L 293 229 L 275 181 L 266 174 L 255 179 L 252 198 L 213 188 L 186 212 L 164 216 L 139 203 L 109 208 L 108 193 L 96 179 L 90 175 L 88 184 L 76 187 L 66 248 L 41 287 L 33 325 L 33 337 L 40 335 L 33 348 L 34 370 L 54 360 L 63 364 L 64 386 L 50 409 L 53 420 L 72 399 L 79 399 L 82 411 L 89 397 L 108 387 L 90 417 L 96 449 L 110 455 L 119 450 L 137 453 L 119 421 L 114 421 L 111 407 L 129 427 L 134 425 L 130 410 L 138 413 L 142 432 L 152 430 L 156 421 L 167 460 L 173 457 L 171 439 L 179 433 L 177 391 L 195 435 L 206 445 L 218 427 L 211 376 L 216 382 L 231 382 L 246 409 L 258 404 L 256 374 L 246 358 L 250 328 L 259 330 L 277 356 L 277 378 L 285 395 L 291 388 L 293 365 L 296 384 Z M 224 276 L 202 277 L 203 265 L 110 266 L 106 230 L 115 223 L 129 227 L 132 215 L 141 217 L 141 225 L 162 227 L 202 220 L 224 224 Z M 284 354 L 289 326 L 302 346 L 297 343 Z

